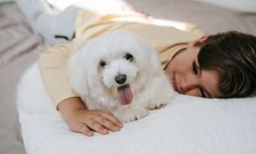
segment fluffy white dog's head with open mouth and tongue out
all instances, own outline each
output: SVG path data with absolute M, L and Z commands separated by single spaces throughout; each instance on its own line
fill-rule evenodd
M 132 102 L 133 93 L 161 69 L 154 48 L 127 31 L 112 31 L 88 41 L 68 64 L 72 87 L 100 102 Z

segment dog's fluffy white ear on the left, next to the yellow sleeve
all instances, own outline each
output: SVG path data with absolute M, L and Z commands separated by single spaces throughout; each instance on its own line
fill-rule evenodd
M 68 76 L 74 91 L 79 95 L 86 95 L 88 83 L 82 54 L 82 51 L 76 52 L 68 59 Z

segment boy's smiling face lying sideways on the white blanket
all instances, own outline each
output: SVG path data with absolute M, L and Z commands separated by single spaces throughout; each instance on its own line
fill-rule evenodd
M 197 57 L 200 46 L 195 46 L 195 43 L 200 43 L 205 39 L 206 36 L 188 43 L 187 48 L 177 53 L 166 68 L 166 73 L 175 91 L 180 94 L 209 98 L 221 97 L 218 89 L 220 73 L 215 70 L 202 69 L 200 71 L 199 69 Z

